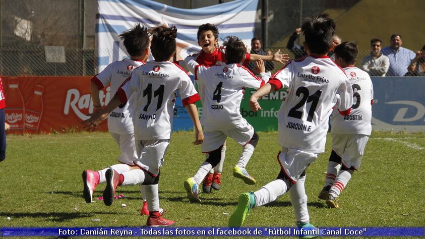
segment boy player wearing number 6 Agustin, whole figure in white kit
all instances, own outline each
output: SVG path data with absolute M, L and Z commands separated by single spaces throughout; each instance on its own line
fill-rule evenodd
M 354 170 L 360 167 L 363 152 L 372 132 L 373 85 L 368 73 L 354 67 L 358 50 L 354 42 L 335 47 L 335 63 L 344 69 L 353 89 L 349 115 L 336 112 L 331 117 L 332 153 L 329 157 L 325 187 L 319 198 L 331 208 L 338 208 L 339 194 L 347 186 Z M 342 165 L 341 165 L 342 164 Z

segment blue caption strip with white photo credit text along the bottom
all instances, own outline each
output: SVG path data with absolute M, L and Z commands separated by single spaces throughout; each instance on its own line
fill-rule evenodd
M 423 236 L 423 227 L 3 227 L 0 236 Z

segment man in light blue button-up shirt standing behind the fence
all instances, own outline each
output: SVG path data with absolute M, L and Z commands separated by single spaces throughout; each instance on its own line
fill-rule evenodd
M 403 40 L 400 34 L 394 33 L 390 38 L 390 46 L 382 49 L 382 53 L 390 58 L 390 68 L 386 76 L 404 76 L 407 67 L 415 57 L 415 53 L 401 47 Z

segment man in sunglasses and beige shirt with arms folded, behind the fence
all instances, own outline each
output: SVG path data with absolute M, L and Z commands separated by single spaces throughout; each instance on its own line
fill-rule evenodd
M 390 68 L 390 59 L 381 52 L 382 41 L 378 38 L 371 40 L 371 54 L 361 61 L 361 69 L 370 76 L 385 76 Z

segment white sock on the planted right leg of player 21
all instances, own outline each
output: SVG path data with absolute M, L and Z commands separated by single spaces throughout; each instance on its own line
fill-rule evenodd
M 307 194 L 304 187 L 306 176 L 299 177 L 298 180 L 289 189 L 289 197 L 294 210 L 295 219 L 297 222 L 309 223 L 309 211 L 307 210 Z

